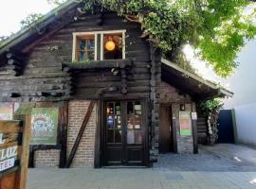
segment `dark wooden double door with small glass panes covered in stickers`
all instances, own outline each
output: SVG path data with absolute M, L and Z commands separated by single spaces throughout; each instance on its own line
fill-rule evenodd
M 103 165 L 145 165 L 142 102 L 108 101 L 104 110 Z

